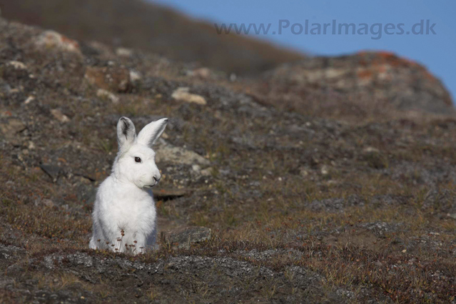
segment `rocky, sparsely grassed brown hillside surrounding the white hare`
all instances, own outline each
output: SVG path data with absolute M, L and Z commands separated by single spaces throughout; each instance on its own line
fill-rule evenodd
M 236 81 L 0 19 L 0 302 L 455 303 L 456 119 L 376 56 Z M 88 250 L 120 116 L 170 118 L 136 257 Z

